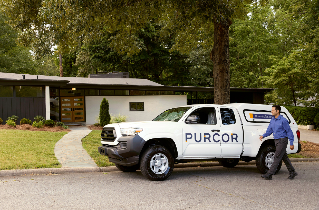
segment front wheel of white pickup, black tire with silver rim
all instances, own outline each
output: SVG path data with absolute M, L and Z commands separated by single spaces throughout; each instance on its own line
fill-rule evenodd
M 160 168 L 163 167 L 163 171 L 161 171 L 160 168 L 158 167 L 155 168 L 154 166 L 151 166 L 151 164 L 155 164 L 156 160 L 158 160 L 158 157 L 163 160 L 163 161 L 160 160 L 160 163 L 161 163 Z M 140 168 L 141 168 L 142 174 L 149 180 L 152 180 L 152 181 L 166 180 L 173 172 L 174 158 L 171 152 L 166 147 L 159 146 L 159 145 L 151 146 L 143 152 L 141 161 L 140 161 Z M 156 170 L 159 170 L 158 173 L 160 174 L 155 173 Z

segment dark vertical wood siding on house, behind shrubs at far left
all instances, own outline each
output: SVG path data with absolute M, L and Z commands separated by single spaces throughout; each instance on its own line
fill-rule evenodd
M 12 115 L 19 117 L 17 125 L 22 118 L 33 122 L 36 115 L 45 117 L 45 97 L 0 98 L 0 117 L 3 124 Z

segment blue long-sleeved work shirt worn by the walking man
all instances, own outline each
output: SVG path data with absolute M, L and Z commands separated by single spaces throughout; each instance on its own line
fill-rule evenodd
M 275 117 L 271 118 L 267 131 L 263 134 L 263 138 L 270 136 L 271 133 L 274 134 L 275 139 L 288 137 L 290 146 L 293 146 L 293 141 L 295 140 L 293 131 L 290 128 L 288 120 L 283 116 L 279 115 L 277 119 Z

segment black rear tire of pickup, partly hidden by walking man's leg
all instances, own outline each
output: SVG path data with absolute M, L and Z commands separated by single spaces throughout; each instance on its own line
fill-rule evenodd
M 260 171 L 260 173 L 265 174 L 265 173 L 268 172 L 268 170 L 270 168 L 269 166 L 271 166 L 271 164 L 270 165 L 267 164 L 266 157 L 267 157 L 267 155 L 270 155 L 271 153 L 275 154 L 275 152 L 276 152 L 276 147 L 275 146 L 266 145 L 257 154 L 256 166 L 257 166 L 257 169 Z M 278 168 L 277 168 L 275 174 L 279 172 L 279 170 L 281 168 L 281 165 L 282 165 L 282 161 L 280 160 Z

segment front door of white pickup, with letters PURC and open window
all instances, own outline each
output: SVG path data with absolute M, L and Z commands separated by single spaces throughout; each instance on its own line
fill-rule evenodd
M 218 115 L 217 106 L 215 106 L 198 108 L 187 116 L 182 122 L 183 156 L 220 156 Z M 199 120 L 187 122 L 189 116 Z

